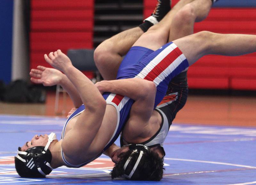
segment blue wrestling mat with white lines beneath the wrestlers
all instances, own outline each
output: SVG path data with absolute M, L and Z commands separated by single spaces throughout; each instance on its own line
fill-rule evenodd
M 104 155 L 82 168 L 57 168 L 44 179 L 20 178 L 14 168 L 18 146 L 36 134 L 55 132 L 60 139 L 64 123 L 65 119 L 54 117 L 0 115 L 0 183 L 256 184 L 256 128 L 175 123 L 164 143 L 165 171 L 161 181 L 111 180 L 113 163 Z

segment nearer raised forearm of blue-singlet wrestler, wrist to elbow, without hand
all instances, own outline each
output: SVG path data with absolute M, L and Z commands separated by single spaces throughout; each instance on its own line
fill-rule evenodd
M 82 102 L 87 107 L 95 107 L 95 105 L 99 105 L 99 103 L 105 101 L 92 81 L 74 66 L 68 67 L 63 72 L 74 85 L 77 93 L 81 97 Z

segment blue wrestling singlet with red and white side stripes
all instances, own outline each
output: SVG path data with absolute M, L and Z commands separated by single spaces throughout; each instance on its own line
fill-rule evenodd
M 143 47 L 137 48 L 139 49 Z M 133 49 L 134 47 L 131 48 L 131 50 Z M 145 48 L 143 48 L 143 52 L 145 53 L 144 49 Z M 128 52 L 129 55 L 127 54 L 126 58 L 131 57 L 132 53 L 132 51 L 130 53 Z M 169 82 L 174 76 L 188 67 L 188 61 L 180 49 L 172 42 L 165 44 L 163 47 L 154 52 L 152 50 L 148 50 L 145 55 L 142 55 L 137 63 L 134 62 L 135 60 L 131 61 L 132 57 L 129 59 L 131 62 L 128 62 L 129 60 L 127 60 L 127 62 L 125 61 L 122 67 L 120 67 L 118 70 L 117 79 L 141 78 L 153 81 L 156 85 L 156 99 L 154 106 L 154 108 L 156 108 L 156 105 L 159 104 L 164 98 Z M 70 167 L 81 167 L 88 164 L 95 158 L 98 158 L 116 141 L 124 127 L 125 122 L 127 121 L 134 100 L 114 93 L 104 93 L 103 97 L 107 104 L 111 104 L 116 108 L 118 114 L 116 130 L 102 152 L 83 164 L 72 165 L 68 163 L 62 152 L 63 161 Z M 63 128 L 61 135 L 62 139 L 65 136 L 65 129 L 69 120 L 84 111 L 84 108 L 84 105 L 82 105 L 70 115 Z

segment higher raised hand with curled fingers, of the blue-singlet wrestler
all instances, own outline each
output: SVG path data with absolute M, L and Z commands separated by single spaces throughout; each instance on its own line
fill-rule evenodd
M 47 63 L 49 63 L 55 69 L 58 69 L 65 73 L 65 70 L 68 67 L 72 66 L 71 60 L 68 58 L 67 55 L 61 52 L 61 50 L 57 50 L 55 52 L 49 53 L 47 56 L 44 54 L 44 59 Z

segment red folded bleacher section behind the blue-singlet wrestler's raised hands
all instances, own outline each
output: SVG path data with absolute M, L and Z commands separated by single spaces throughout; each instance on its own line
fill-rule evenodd
M 31 0 L 30 68 L 48 66 L 44 54 L 93 48 L 94 1 Z

